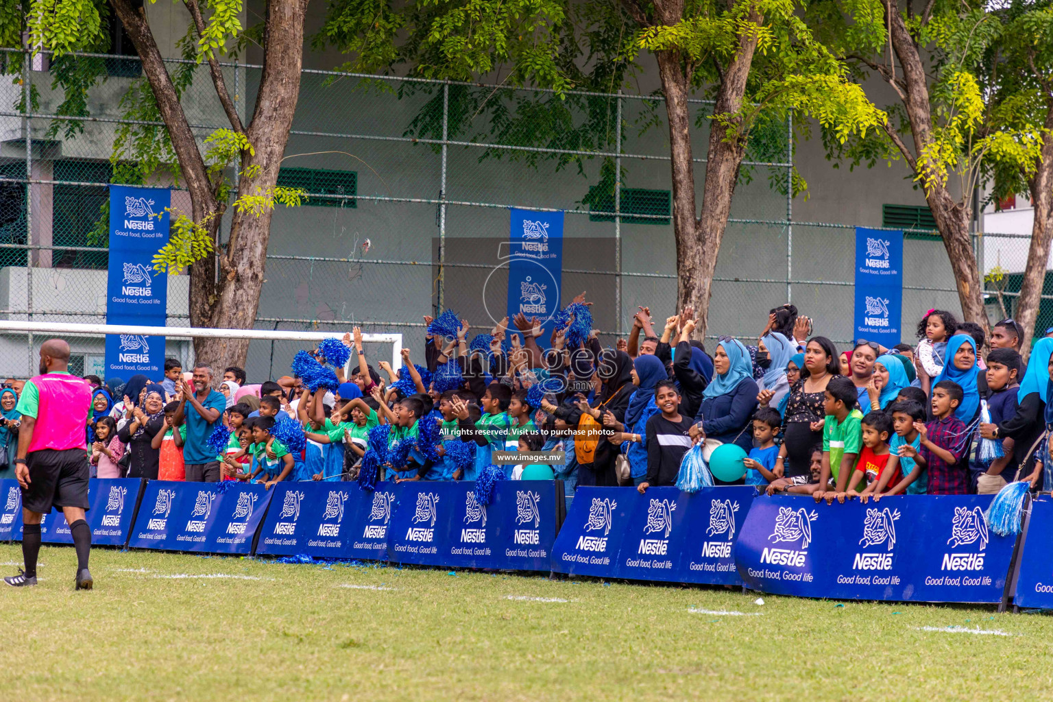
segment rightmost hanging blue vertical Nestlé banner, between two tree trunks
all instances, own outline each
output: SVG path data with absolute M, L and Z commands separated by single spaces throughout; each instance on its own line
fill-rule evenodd
M 856 227 L 856 339 L 892 347 L 902 341 L 903 233 Z

